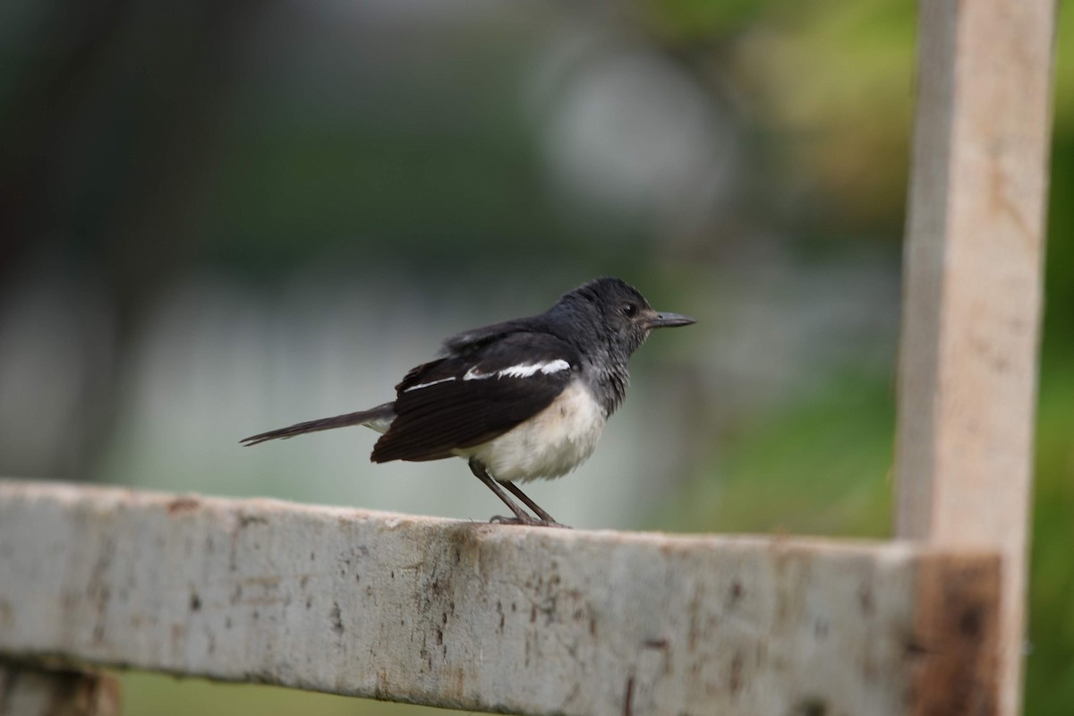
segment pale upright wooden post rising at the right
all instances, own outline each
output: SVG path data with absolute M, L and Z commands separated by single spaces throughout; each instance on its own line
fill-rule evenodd
M 1020 704 L 1055 0 L 921 0 L 899 365 L 899 537 L 1003 555 Z

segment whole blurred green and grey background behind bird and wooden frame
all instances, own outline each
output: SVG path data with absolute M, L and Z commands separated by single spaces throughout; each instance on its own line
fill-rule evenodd
M 1060 3 L 1027 713 L 1074 713 L 1074 16 Z M 619 275 L 655 335 L 584 527 L 890 532 L 904 0 L 0 6 L 0 474 L 487 520 L 349 412 Z M 129 714 L 420 714 L 125 676 Z

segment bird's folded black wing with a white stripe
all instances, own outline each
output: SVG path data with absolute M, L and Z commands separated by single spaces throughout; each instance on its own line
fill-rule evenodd
M 539 333 L 420 365 L 396 385 L 395 420 L 372 459 L 438 459 L 481 444 L 547 408 L 578 369 L 570 346 Z

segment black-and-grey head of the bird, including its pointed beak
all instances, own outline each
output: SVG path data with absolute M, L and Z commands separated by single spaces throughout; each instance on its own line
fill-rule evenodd
M 694 319 L 653 310 L 645 297 L 618 278 L 597 278 L 578 287 L 560 299 L 556 308 L 584 316 L 595 324 L 613 353 L 624 361 L 654 328 L 690 325 Z

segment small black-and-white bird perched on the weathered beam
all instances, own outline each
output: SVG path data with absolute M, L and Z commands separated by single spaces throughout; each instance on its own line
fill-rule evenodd
M 627 359 L 655 328 L 694 322 L 653 310 L 619 278 L 597 278 L 563 294 L 543 313 L 446 339 L 434 360 L 395 385 L 394 400 L 241 443 L 362 425 L 381 434 L 374 463 L 466 459 L 513 515 L 490 522 L 565 527 L 516 483 L 558 478 L 584 463 L 626 397 Z

